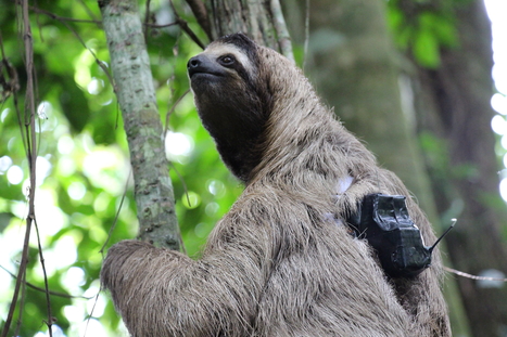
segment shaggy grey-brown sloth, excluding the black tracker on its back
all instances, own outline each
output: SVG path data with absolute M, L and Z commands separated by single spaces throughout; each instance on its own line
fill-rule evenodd
M 438 249 L 392 277 L 346 219 L 371 193 L 409 195 L 291 61 L 243 34 L 190 59 L 202 124 L 244 192 L 193 260 L 124 241 L 101 271 L 132 336 L 451 336 Z M 435 236 L 417 204 L 410 217 Z

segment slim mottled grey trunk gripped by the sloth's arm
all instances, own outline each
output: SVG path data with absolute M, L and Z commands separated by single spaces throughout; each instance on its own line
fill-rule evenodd
M 181 237 L 138 3 L 103 0 L 99 7 L 130 151 L 139 238 L 179 250 Z

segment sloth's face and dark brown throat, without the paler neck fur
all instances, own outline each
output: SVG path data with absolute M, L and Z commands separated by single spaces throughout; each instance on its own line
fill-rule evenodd
M 243 181 L 261 160 L 271 112 L 266 53 L 276 54 L 235 34 L 214 41 L 187 65 L 202 122 L 225 164 Z

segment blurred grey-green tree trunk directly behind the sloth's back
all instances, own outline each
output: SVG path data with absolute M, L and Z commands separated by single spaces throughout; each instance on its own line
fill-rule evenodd
M 401 57 L 388 31 L 384 3 L 314 0 L 309 13 L 307 69 L 317 91 L 345 127 L 366 141 L 380 164 L 403 180 L 431 222 L 438 223 L 415 118 L 402 105 Z M 440 225 L 435 229 L 442 231 Z M 466 335 L 462 303 L 452 280 L 446 282 L 445 296 L 454 332 Z

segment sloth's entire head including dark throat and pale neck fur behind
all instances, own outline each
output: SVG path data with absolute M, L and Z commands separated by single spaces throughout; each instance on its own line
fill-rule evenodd
M 214 41 L 187 67 L 201 120 L 224 163 L 244 182 L 259 164 L 283 157 L 275 153 L 297 143 L 296 134 L 304 139 L 303 127 L 315 121 L 307 117 L 322 111 L 291 61 L 243 34 Z

